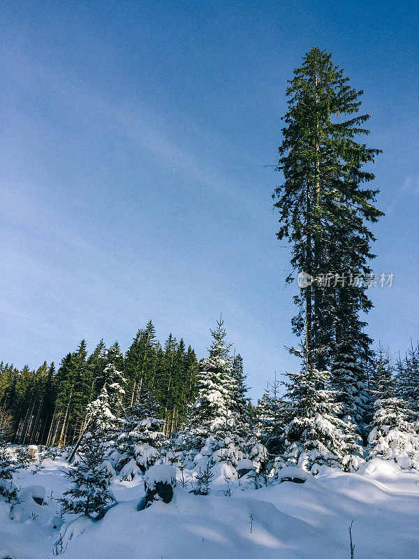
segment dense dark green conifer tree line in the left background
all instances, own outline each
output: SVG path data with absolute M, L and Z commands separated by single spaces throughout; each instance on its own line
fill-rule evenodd
M 20 444 L 73 444 L 82 433 L 89 403 L 109 383 L 110 365 L 123 377 L 122 407 L 140 391 L 154 393 L 165 429 L 175 430 L 196 395 L 198 361 L 184 340 L 170 334 L 162 346 L 152 321 L 135 335 L 125 355 L 103 340 L 87 353 L 86 341 L 68 353 L 56 370 L 46 362 L 37 370 L 0 363 L 0 422 Z

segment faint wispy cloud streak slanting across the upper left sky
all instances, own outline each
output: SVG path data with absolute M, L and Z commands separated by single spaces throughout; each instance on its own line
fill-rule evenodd
M 10 61 L 4 62 L 10 65 Z M 96 127 L 103 123 L 104 129 L 114 129 L 131 145 L 147 151 L 161 166 L 177 169 L 184 177 L 215 192 L 226 203 L 235 205 L 237 199 L 247 196 L 241 185 L 229 180 L 214 163 L 193 153 L 188 146 L 193 138 L 185 138 L 172 126 L 170 114 L 163 119 L 145 106 L 140 99 L 141 92 L 135 101 L 122 101 L 111 98 L 91 82 L 83 82 L 77 75 L 63 71 L 62 67 L 47 68 L 31 59 L 19 59 L 14 63 L 10 72 L 25 68 L 22 87 L 31 94 L 36 92 L 49 97 L 52 106 L 64 107 L 82 119 L 90 119 Z

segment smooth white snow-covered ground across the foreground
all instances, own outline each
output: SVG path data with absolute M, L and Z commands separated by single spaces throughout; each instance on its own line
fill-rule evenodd
M 18 470 L 21 503 L 0 502 L 0 559 L 346 559 L 353 521 L 355 559 L 419 557 L 419 474 L 392 461 L 371 460 L 356 474 L 324 467 L 304 484 L 289 481 L 258 490 L 221 486 L 207 496 L 175 488 L 169 504 L 137 510 L 140 477 L 114 481 L 118 504 L 100 521 L 59 518 L 68 486 L 63 460 Z M 34 487 L 36 486 L 36 487 Z M 34 497 L 42 498 L 38 504 Z

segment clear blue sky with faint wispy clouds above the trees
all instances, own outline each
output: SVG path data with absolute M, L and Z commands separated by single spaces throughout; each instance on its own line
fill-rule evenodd
M 286 80 L 312 46 L 365 90 L 377 273 L 369 333 L 418 337 L 414 1 L 30 1 L 0 20 L 0 359 L 126 349 L 152 319 L 205 355 L 220 312 L 262 393 L 298 365 L 271 194 Z

